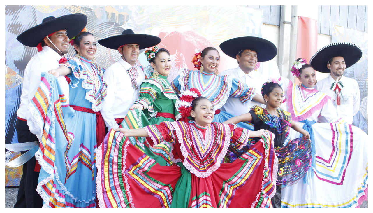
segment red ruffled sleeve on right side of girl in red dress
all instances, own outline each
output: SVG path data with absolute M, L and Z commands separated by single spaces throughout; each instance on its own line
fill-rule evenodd
M 250 130 L 237 127 L 236 124 L 228 124 L 231 129 L 231 143 L 230 146 L 234 149 L 242 149 L 247 143 L 252 141 L 250 137 Z

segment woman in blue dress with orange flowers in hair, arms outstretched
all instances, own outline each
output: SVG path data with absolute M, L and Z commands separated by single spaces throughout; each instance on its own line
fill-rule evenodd
M 264 102 L 263 96 L 255 92 L 255 88 L 248 87 L 247 84 L 230 77 L 229 75 L 218 75 L 220 55 L 214 47 L 206 47 L 200 54 L 196 54 L 193 58 L 195 68 L 200 70 L 184 69 L 180 75 L 172 82 L 172 88 L 175 93 L 180 95 L 186 90 L 197 88 L 201 91 L 202 96 L 209 99 L 215 109 L 214 122 L 223 123 L 234 115 L 220 111 L 220 108 L 225 104 L 229 96 L 239 98 L 242 104 L 248 103 L 251 100 L 261 104 Z M 176 108 L 178 108 L 176 103 Z M 254 127 L 248 123 L 240 122 L 237 126 L 254 130 Z

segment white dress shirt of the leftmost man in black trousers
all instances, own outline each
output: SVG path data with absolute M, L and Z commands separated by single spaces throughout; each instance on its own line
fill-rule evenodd
M 44 46 L 43 50 L 32 56 L 25 68 L 21 104 L 17 110 L 17 116 L 27 120 L 30 132 L 35 134 L 38 138 L 40 138 L 39 127 L 35 126 L 31 119 L 31 112 L 27 107 L 40 86 L 40 74 L 42 72 L 56 70 L 59 67 L 59 61 L 61 58 L 62 56 L 60 56 L 56 51 L 48 46 Z M 66 81 L 65 76 L 60 76 L 57 79 L 65 93 L 66 100 L 69 102 L 69 84 Z

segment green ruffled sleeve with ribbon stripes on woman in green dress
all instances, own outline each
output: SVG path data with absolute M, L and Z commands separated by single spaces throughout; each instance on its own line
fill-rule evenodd
M 139 91 L 140 97 L 135 101 L 135 104 L 141 103 L 147 107 L 149 112 L 154 112 L 153 103 L 157 99 L 157 93 L 159 94 L 160 92 L 161 90 L 158 87 L 152 86 L 152 84 L 147 82 L 142 83 Z

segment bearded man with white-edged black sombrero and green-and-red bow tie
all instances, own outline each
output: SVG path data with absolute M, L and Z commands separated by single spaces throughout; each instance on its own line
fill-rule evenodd
M 316 83 L 315 89 L 330 96 L 339 118 L 352 124 L 360 108 L 360 89 L 356 80 L 343 76 L 346 68 L 360 60 L 363 51 L 355 44 L 334 43 L 323 47 L 311 58 L 310 64 L 319 72 L 330 72 Z

